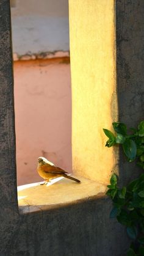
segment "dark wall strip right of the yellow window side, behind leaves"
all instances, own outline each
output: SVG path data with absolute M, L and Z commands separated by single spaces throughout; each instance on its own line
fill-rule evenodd
M 144 1 L 116 1 L 119 121 L 137 127 L 144 113 Z M 120 178 L 126 184 L 141 172 L 120 152 Z

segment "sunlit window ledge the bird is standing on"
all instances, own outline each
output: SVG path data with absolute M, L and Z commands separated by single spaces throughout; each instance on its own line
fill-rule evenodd
M 56 178 L 48 185 L 32 183 L 18 186 L 20 214 L 37 213 L 105 196 L 106 185 L 84 177 L 77 178 L 81 183 L 66 178 Z

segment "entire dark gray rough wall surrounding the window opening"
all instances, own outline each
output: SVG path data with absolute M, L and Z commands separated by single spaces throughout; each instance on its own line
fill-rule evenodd
M 144 2 L 117 0 L 116 13 L 119 120 L 134 126 L 143 118 Z M 107 198 L 18 214 L 9 0 L 0 1 L 0 16 L 0 255 L 124 256 L 129 241 L 123 227 L 109 219 Z M 138 172 L 121 159 L 126 182 Z

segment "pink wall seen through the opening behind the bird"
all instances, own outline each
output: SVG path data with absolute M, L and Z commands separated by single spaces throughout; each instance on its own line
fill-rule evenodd
M 71 172 L 69 59 L 16 61 L 14 79 L 18 185 L 41 180 L 39 156 Z

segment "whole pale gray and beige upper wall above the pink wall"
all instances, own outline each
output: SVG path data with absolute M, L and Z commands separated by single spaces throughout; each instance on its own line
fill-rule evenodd
M 69 51 L 68 0 L 16 0 L 12 11 L 13 53 Z

